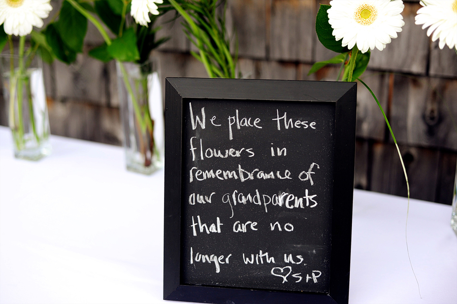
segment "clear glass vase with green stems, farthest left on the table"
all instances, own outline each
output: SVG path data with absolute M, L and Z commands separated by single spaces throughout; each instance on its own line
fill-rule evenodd
M 3 94 L 14 141 L 14 156 L 38 160 L 51 153 L 49 117 L 39 56 L 0 55 Z

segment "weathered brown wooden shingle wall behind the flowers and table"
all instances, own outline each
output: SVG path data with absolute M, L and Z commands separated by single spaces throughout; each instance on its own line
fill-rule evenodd
M 53 0 L 54 5 L 60 1 Z M 227 29 L 237 29 L 238 69 L 245 78 L 335 80 L 339 66 L 308 76 L 315 61 L 335 53 L 315 35 L 319 3 L 327 0 L 227 0 Z M 405 26 L 382 52 L 374 50 L 364 81 L 395 132 L 411 197 L 450 204 L 457 159 L 457 55 L 432 43 L 414 24 L 418 1 L 404 1 Z M 180 19 L 162 16 L 159 36 L 171 36 L 154 56 L 165 77 L 206 77 L 194 59 Z M 102 43 L 89 24 L 85 54 Z M 116 68 L 79 55 L 77 63 L 45 67 L 51 132 L 120 145 Z M 6 125 L 5 111 L 0 123 Z M 400 160 L 384 119 L 361 84 L 357 93 L 355 187 L 406 196 Z

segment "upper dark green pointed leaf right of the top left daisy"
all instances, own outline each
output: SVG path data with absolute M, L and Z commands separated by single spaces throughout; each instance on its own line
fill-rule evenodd
M 87 31 L 87 18 L 78 12 L 68 1 L 63 2 L 56 28 L 62 41 L 73 51 L 82 52 Z

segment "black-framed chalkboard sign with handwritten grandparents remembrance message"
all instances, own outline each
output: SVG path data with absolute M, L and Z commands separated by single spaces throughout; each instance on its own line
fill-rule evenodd
M 165 299 L 348 302 L 355 96 L 167 78 Z

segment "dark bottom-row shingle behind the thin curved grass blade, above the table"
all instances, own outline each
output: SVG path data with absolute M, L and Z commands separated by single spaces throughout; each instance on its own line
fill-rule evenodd
M 412 198 L 437 201 L 436 189 L 439 168 L 437 150 L 400 147 Z M 373 145 L 371 190 L 407 196 L 406 181 L 395 145 Z

